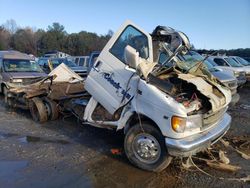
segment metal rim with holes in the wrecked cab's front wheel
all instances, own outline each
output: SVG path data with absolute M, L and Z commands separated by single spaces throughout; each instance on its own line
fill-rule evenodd
M 146 164 L 153 164 L 161 154 L 161 147 L 156 138 L 147 133 L 137 135 L 132 143 L 132 150 L 136 158 Z

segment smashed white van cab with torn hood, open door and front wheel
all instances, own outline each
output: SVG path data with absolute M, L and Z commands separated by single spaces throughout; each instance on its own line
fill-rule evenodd
M 172 51 L 162 65 L 153 62 L 153 40 Z M 161 171 L 172 157 L 206 149 L 230 127 L 228 87 L 199 64 L 165 66 L 190 46 L 182 32 L 157 27 L 150 35 L 127 21 L 90 70 L 84 82 L 87 95 L 56 102 L 83 124 L 123 129 L 129 161 L 144 170 Z M 37 108 L 43 101 L 37 104 L 37 114 L 46 115 L 46 108 Z

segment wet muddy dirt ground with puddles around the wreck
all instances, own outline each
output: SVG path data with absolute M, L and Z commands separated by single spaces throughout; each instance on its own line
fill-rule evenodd
M 241 100 L 229 110 L 233 122 L 224 137 L 248 155 L 249 94 L 250 88 L 240 90 Z M 230 164 L 241 167 L 237 172 L 215 170 L 195 158 L 211 176 L 197 168 L 184 169 L 181 159 L 161 173 L 145 172 L 128 162 L 122 147 L 121 132 L 82 126 L 74 117 L 37 124 L 28 112 L 6 110 L 0 97 L 0 187 L 250 187 L 235 180 L 250 175 L 249 160 L 221 143 L 213 152 L 226 151 Z

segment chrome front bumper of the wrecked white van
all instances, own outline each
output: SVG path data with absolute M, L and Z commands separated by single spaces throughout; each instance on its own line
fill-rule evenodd
M 231 116 L 225 113 L 223 118 L 207 131 L 183 139 L 165 138 L 168 153 L 184 157 L 202 151 L 224 136 L 230 124 Z

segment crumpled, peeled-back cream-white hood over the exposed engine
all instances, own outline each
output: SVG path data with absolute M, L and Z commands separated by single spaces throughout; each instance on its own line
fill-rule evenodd
M 139 75 L 143 75 L 146 80 L 152 72 L 155 74 L 154 76 L 158 77 L 159 72 L 154 73 L 153 71 L 155 66 L 157 66 L 157 64 L 141 60 L 137 71 L 139 71 Z M 179 79 L 195 85 L 197 90 L 208 98 L 212 112 L 225 108 L 231 102 L 230 89 L 222 86 L 220 81 L 203 66 L 202 62 L 197 63 L 191 68 L 187 68 L 186 62 L 179 61 L 176 62 L 176 65 L 173 67 L 166 68 L 166 70 L 168 70 L 168 72 L 160 74 L 165 74 L 165 77 L 175 74 Z M 174 87 L 174 84 L 172 84 L 172 86 Z

